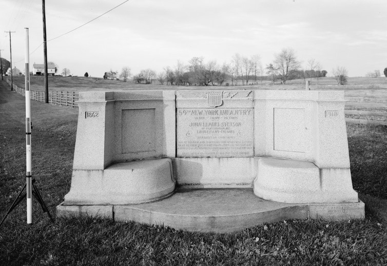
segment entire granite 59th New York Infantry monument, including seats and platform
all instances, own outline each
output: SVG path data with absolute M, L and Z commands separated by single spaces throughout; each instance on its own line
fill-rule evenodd
M 71 188 L 56 215 L 218 233 L 364 218 L 344 104 L 337 91 L 80 93 Z

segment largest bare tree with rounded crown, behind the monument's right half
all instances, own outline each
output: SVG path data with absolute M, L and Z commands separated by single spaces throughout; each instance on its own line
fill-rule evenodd
M 292 72 L 300 68 L 300 62 L 297 61 L 294 50 L 287 48 L 282 49 L 279 54 L 275 55 L 274 67 L 277 69 L 278 75 L 285 84 Z

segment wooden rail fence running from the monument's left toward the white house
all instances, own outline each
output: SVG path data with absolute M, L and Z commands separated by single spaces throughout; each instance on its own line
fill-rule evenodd
M 11 81 L 9 79 L 6 79 L 7 83 L 11 85 Z M 26 90 L 25 88 L 21 88 L 15 84 L 13 84 L 13 89 L 18 94 L 26 96 Z M 45 92 L 38 92 L 38 91 L 30 91 L 31 100 L 44 102 L 45 100 Z M 76 106 L 76 101 L 78 101 L 79 95 L 75 92 L 48 92 L 48 102 L 56 105 L 61 106 Z

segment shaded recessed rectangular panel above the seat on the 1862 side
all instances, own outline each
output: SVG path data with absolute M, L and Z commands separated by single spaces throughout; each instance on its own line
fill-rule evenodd
M 122 110 L 122 153 L 156 150 L 154 111 Z

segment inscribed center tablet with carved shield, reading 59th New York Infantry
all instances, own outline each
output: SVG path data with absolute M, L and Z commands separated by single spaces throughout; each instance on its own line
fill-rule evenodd
M 177 109 L 178 157 L 254 155 L 253 108 L 248 106 L 247 101 L 246 105 L 243 101 L 227 102 L 231 100 L 226 98 L 229 93 L 217 93 L 214 98 L 218 99 L 211 99 L 211 92 L 208 92 L 207 95 L 204 93 L 204 97 L 203 95 L 202 98 L 199 97 L 202 99 L 199 100 L 199 104 L 190 101 L 185 104 L 186 108 Z M 205 108 L 192 108 L 192 105 Z

